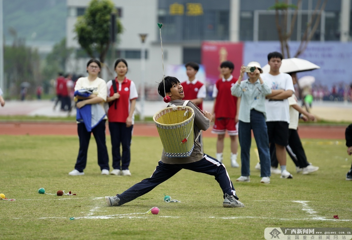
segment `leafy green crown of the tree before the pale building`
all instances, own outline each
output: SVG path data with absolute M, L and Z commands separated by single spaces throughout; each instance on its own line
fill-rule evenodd
M 99 60 L 103 63 L 111 44 L 110 28 L 111 14 L 116 9 L 111 0 L 92 0 L 84 15 L 77 18 L 75 24 L 76 39 L 87 54 L 94 58 L 99 54 Z M 122 25 L 117 18 L 117 34 L 122 32 Z

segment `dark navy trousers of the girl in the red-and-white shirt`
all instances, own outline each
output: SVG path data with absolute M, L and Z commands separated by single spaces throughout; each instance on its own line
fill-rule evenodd
M 113 169 L 127 170 L 131 162 L 130 147 L 133 125 L 127 128 L 126 123 L 109 122 L 109 130 L 112 145 L 112 167 Z M 120 144 L 122 145 L 122 157 Z M 120 166 L 120 162 L 122 162 L 122 166 Z

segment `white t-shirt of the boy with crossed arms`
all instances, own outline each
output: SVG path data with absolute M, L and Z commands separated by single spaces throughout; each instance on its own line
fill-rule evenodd
M 270 73 L 263 73 L 261 77 L 272 90 L 283 89 L 285 91 L 292 90 L 295 92 L 292 78 L 287 73 L 279 73 L 278 75 L 271 75 Z M 290 123 L 289 104 L 287 99 L 276 100 L 266 99 L 266 122 L 282 121 Z

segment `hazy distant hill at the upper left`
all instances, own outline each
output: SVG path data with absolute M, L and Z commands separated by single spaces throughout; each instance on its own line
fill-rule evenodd
M 66 0 L 3 0 L 4 34 L 12 40 L 9 29 L 26 41 L 58 42 L 66 35 Z

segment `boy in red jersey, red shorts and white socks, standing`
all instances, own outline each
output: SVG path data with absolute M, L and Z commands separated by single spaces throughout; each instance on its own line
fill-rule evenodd
M 234 65 L 231 61 L 224 61 L 220 65 L 223 77 L 218 79 L 213 88 L 213 119 L 215 124 L 212 133 L 218 134 L 216 142 L 216 159 L 222 162 L 224 138 L 227 130 L 231 138 L 231 167 L 238 168 L 238 123 L 235 121 L 237 114 L 237 97 L 231 95 L 231 87 L 237 82 L 232 76 Z

